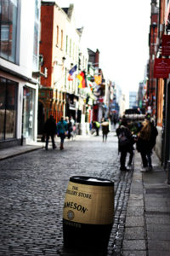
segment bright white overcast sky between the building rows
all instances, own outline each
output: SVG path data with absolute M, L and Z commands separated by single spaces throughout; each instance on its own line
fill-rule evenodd
M 77 28 L 89 49 L 99 49 L 104 75 L 124 92 L 138 90 L 149 57 L 150 0 L 56 0 L 74 3 Z

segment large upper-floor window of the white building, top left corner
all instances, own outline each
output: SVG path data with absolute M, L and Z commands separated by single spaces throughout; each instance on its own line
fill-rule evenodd
M 18 0 L 1 0 L 0 10 L 0 56 L 16 63 Z

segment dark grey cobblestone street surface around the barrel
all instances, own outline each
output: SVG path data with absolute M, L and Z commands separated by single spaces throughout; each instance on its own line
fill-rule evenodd
M 65 190 L 74 175 L 114 181 L 115 222 L 107 255 L 121 255 L 132 172 L 119 171 L 117 139 L 112 132 L 107 143 L 102 142 L 101 136 L 77 137 L 74 141 L 65 141 L 62 151 L 58 143 L 55 150 L 41 148 L 2 160 L 0 255 L 82 255 L 63 248 Z

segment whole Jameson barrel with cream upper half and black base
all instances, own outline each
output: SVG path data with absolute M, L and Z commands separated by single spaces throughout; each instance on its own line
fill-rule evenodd
M 70 177 L 63 210 L 65 247 L 105 251 L 113 219 L 113 182 L 98 177 Z

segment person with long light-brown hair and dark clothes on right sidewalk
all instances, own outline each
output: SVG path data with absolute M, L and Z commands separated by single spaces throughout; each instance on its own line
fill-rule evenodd
M 137 150 L 139 151 L 142 159 L 143 167 L 141 172 L 152 170 L 151 154 L 152 149 L 156 144 L 156 137 L 158 135 L 156 126 L 150 123 L 149 119 L 144 119 L 142 128 L 138 133 Z

